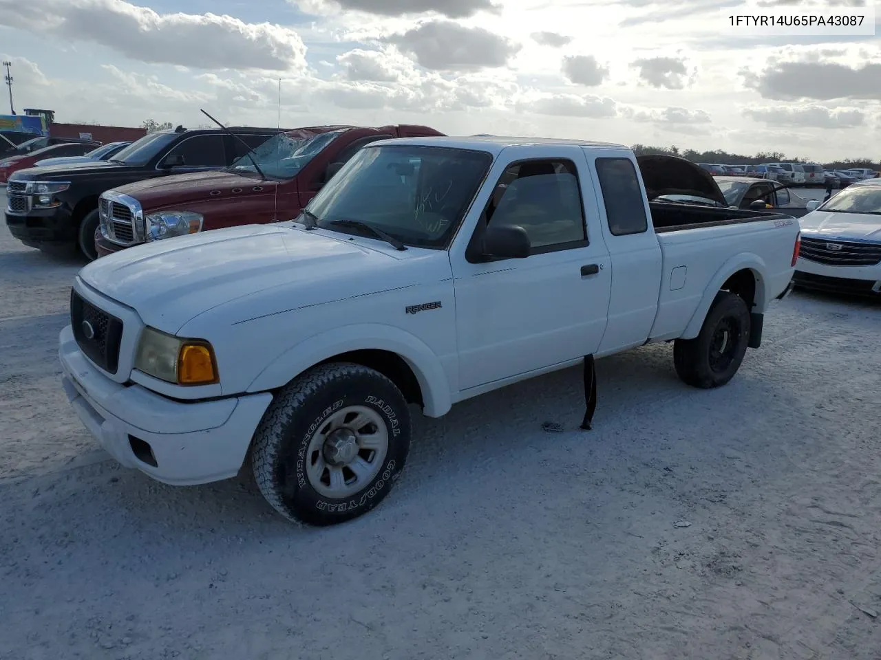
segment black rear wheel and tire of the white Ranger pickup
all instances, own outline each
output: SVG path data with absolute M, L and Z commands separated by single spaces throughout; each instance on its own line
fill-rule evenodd
M 679 378 L 701 389 L 728 383 L 744 361 L 750 320 L 742 297 L 728 291 L 717 293 L 700 334 L 673 343 L 673 364 Z

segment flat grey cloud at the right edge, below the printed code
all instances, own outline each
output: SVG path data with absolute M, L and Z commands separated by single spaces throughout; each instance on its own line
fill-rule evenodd
M 758 74 L 740 74 L 746 87 L 765 99 L 881 99 L 881 64 L 778 62 Z

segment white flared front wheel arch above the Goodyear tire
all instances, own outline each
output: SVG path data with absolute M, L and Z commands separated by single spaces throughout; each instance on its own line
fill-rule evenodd
M 449 379 L 441 360 L 418 337 L 400 328 L 376 323 L 353 324 L 314 334 L 287 348 L 248 385 L 247 392 L 264 392 L 286 385 L 292 378 L 329 357 L 353 350 L 387 350 L 410 365 L 422 390 L 429 417 L 447 414 L 452 407 Z

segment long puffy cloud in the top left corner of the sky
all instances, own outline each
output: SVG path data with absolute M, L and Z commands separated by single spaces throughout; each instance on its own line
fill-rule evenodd
M 159 14 L 123 0 L 0 0 L 0 25 L 90 41 L 140 62 L 198 69 L 306 68 L 293 30 L 216 14 Z

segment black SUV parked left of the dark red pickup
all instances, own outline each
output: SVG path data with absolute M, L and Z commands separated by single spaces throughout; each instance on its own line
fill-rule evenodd
M 251 149 L 279 132 L 278 128 L 230 130 Z M 6 187 L 6 224 L 26 246 L 44 251 L 78 249 L 94 260 L 101 193 L 168 174 L 219 170 L 246 151 L 222 130 L 179 126 L 150 133 L 105 162 L 19 170 Z

